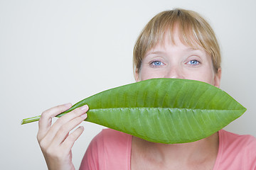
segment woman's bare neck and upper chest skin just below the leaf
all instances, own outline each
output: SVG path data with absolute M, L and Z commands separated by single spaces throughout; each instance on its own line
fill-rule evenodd
M 134 137 L 134 144 L 140 150 L 142 157 L 156 162 L 183 162 L 194 164 L 206 162 L 217 157 L 218 154 L 218 132 L 203 140 L 184 144 L 159 144 L 148 142 Z M 135 147 L 135 145 L 134 145 Z

